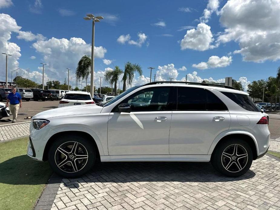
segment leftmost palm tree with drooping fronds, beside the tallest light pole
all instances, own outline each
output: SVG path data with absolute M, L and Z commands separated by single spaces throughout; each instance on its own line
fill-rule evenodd
M 88 55 L 83 55 L 81 60 L 78 62 L 78 66 L 76 69 L 76 78 L 77 80 L 86 79 L 86 87 L 87 87 L 87 77 L 91 73 L 91 57 Z

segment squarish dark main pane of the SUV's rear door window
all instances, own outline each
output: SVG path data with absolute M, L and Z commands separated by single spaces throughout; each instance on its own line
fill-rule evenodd
M 196 87 L 177 88 L 177 110 L 206 110 L 206 90 Z

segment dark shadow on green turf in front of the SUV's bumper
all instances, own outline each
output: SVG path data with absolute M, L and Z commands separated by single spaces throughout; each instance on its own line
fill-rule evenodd
M 0 163 L 0 183 L 4 184 L 46 184 L 51 174 L 48 162 L 35 161 L 27 155 L 16 156 Z

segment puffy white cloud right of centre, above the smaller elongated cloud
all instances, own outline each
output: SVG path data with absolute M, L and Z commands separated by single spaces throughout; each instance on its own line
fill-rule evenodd
M 196 29 L 187 31 L 184 38 L 181 40 L 181 50 L 193 49 L 198 51 L 205 51 L 215 48 L 211 43 L 214 41 L 210 26 L 205 23 L 199 23 Z

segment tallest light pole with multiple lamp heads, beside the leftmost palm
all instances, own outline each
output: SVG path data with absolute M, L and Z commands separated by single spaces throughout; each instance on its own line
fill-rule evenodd
M 92 34 L 91 34 L 91 97 L 93 98 L 93 83 L 94 83 L 94 22 L 100 22 L 100 19 L 104 19 L 102 16 L 94 17 L 93 14 L 87 14 L 84 17 L 85 20 L 92 20 Z

